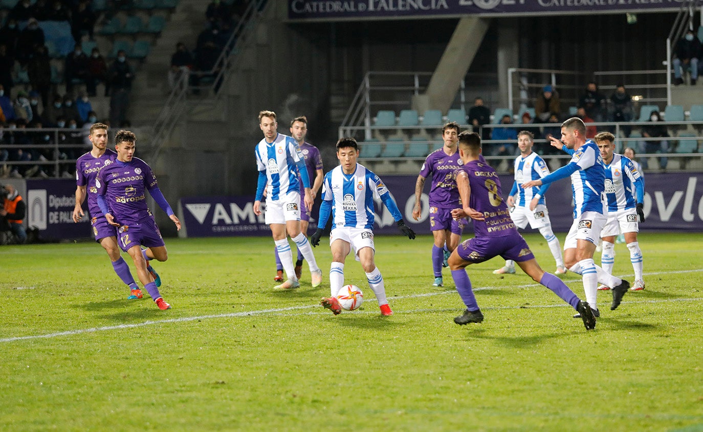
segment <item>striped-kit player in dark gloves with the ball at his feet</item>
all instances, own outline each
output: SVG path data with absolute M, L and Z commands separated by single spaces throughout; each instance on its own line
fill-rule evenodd
M 359 158 L 359 146 L 354 138 L 341 138 L 337 141 L 337 159 L 340 165 L 325 174 L 322 182 L 322 204 L 318 216 L 318 229 L 310 238 L 313 246 L 320 244 L 323 228 L 332 215 L 333 228 L 330 233 L 332 265 L 330 265 L 330 294 L 323 298 L 321 305 L 335 315 L 342 312 L 337 300 L 337 293 L 344 286 L 344 260 L 354 250 L 354 258 L 361 262 L 366 272 L 368 286 L 378 300 L 381 314 L 393 315 L 386 299 L 386 290 L 381 272 L 373 261 L 373 222 L 375 220 L 374 196 L 379 196 L 391 212 L 398 228 L 415 239 L 415 232 L 408 227 L 398 210 L 388 188 L 378 175 L 363 165 L 356 163 Z

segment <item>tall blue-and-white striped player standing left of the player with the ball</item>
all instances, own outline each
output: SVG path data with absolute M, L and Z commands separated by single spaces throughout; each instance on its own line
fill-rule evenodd
M 319 286 L 322 281 L 322 271 L 317 267 L 315 255 L 305 234 L 300 231 L 300 187 L 302 180 L 305 191 L 304 203 L 312 208 L 313 198 L 310 191 L 310 180 L 305 167 L 305 159 L 295 139 L 279 134 L 277 130 L 276 113 L 261 111 L 259 113 L 259 128 L 264 132 L 264 139 L 259 141 L 254 153 L 257 158 L 259 182 L 257 195 L 254 199 L 254 214 L 261 215 L 261 201 L 266 188 L 266 224 L 271 227 L 273 241 L 276 243 L 280 262 L 283 264 L 288 277 L 283 284 L 274 288 L 297 288 L 300 286 L 295 276 L 293 256 L 290 244 L 286 239 L 286 231 L 307 260 L 310 267 L 311 283 Z

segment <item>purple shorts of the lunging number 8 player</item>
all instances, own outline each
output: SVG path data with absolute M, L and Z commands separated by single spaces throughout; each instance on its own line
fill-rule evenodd
M 456 248 L 459 256 L 469 262 L 484 262 L 501 256 L 504 260 L 517 262 L 534 259 L 527 242 L 520 234 L 505 237 L 474 237 L 463 241 Z

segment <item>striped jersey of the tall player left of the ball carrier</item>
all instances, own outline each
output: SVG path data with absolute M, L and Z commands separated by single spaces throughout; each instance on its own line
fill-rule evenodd
M 266 171 L 266 196 L 277 201 L 281 194 L 300 191 L 299 172 L 296 163 L 303 159 L 297 141 L 288 135 L 278 134 L 272 143 L 266 138 L 259 141 L 254 153 L 257 169 Z

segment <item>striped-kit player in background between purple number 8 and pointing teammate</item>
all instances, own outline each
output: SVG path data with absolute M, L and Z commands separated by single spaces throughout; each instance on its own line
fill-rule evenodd
M 542 187 L 524 189 L 522 184 L 529 180 L 536 180 L 549 174 L 549 168 L 540 155 L 532 151 L 534 145 L 534 134 L 529 131 L 520 131 L 517 134 L 517 148 L 520 148 L 520 155 L 515 158 L 515 182 L 512 183 L 510 195 L 505 203 L 510 208 L 510 217 L 515 226 L 524 229 L 529 226 L 531 229 L 539 229 L 547 241 L 549 250 L 557 264 L 555 274 L 564 274 L 567 270 L 562 259 L 562 247 L 559 239 L 552 231 L 552 222 L 549 220 L 544 194 L 549 189 L 549 184 Z M 506 260 L 505 266 L 494 270 L 495 274 L 515 273 L 515 261 Z

